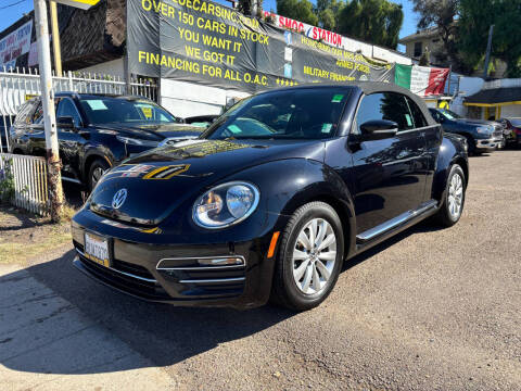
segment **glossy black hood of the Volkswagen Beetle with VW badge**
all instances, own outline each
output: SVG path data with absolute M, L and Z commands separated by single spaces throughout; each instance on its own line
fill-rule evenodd
M 105 174 L 89 198 L 89 207 L 116 220 L 157 225 L 186 202 L 191 209 L 208 187 L 247 167 L 295 157 L 322 162 L 323 144 L 320 140 L 198 139 L 156 148 Z M 255 178 L 237 175 L 234 179 L 255 182 Z M 126 199 L 120 205 L 113 204 L 120 189 Z

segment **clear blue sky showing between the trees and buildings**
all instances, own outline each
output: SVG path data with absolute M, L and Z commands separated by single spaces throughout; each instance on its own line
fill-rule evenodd
M 412 11 L 412 2 L 410 0 L 391 0 L 397 4 L 402 4 L 404 10 L 404 24 L 402 25 L 402 30 L 399 31 L 399 37 L 405 37 L 410 34 L 416 33 L 416 24 L 418 22 L 418 16 Z M 229 4 L 224 0 L 217 0 L 217 2 Z M 312 0 L 312 2 L 315 2 Z M 7 5 L 14 4 L 12 7 L 4 8 Z M 264 0 L 265 10 L 277 11 L 276 0 Z M 24 13 L 33 10 L 33 0 L 0 0 L 0 31 L 4 28 L 11 26 Z M 404 51 L 402 46 L 398 47 L 398 50 Z

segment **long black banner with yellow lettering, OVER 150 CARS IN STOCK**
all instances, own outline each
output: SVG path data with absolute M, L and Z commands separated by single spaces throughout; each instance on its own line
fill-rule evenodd
M 129 71 L 142 76 L 247 92 L 394 80 L 393 64 L 342 49 L 340 36 L 315 40 L 204 0 L 128 0 L 127 34 Z

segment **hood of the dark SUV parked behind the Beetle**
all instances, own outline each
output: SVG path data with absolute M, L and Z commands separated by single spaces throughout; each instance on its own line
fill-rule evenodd
M 158 140 L 162 141 L 166 138 L 192 138 L 199 137 L 202 129 L 198 126 L 175 124 L 175 123 L 162 123 L 162 124 L 147 124 L 147 123 L 111 123 L 97 125 L 98 128 L 104 130 L 113 130 L 122 134 L 125 137 L 135 137 L 138 139 Z

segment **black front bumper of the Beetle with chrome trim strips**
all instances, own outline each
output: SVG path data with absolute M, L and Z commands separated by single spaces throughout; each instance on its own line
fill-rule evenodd
M 96 216 L 92 212 L 81 213 Z M 277 224 L 284 224 L 279 222 L 283 217 L 279 217 Z M 147 301 L 183 306 L 251 308 L 269 299 L 275 260 L 266 254 L 271 229 L 265 236 L 240 242 L 158 244 L 130 241 L 128 236 L 115 235 L 113 228 L 104 224 L 84 225 L 76 217 L 72 224 L 74 265 L 106 286 Z M 109 267 L 85 255 L 86 231 L 109 239 Z M 230 256 L 243 262 L 208 266 L 198 261 Z

